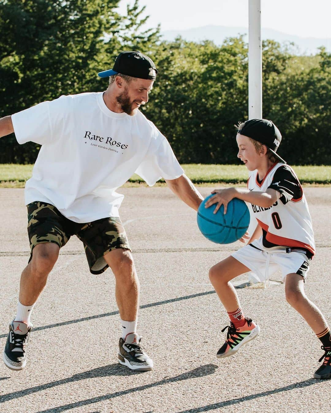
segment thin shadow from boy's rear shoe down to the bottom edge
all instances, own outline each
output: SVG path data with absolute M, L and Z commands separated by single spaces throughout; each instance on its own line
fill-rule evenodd
M 270 396 L 271 394 L 277 394 L 281 392 L 288 392 L 288 390 L 293 389 L 300 389 L 302 387 L 318 385 L 319 383 L 323 382 L 323 380 L 315 380 L 315 379 L 308 379 L 304 380 L 303 382 L 293 383 L 293 385 L 288 385 L 284 387 L 279 387 L 278 389 L 274 390 L 267 390 L 266 392 L 251 394 L 250 396 L 239 397 L 238 399 L 220 401 L 219 403 L 209 404 L 207 406 L 201 406 L 192 408 L 189 410 L 181 410 L 177 413 L 199 413 L 199 412 L 206 412 L 210 410 L 219 409 L 226 406 L 231 406 L 232 404 L 242 403 L 243 401 L 250 401 L 254 399 L 258 399 L 259 397 Z

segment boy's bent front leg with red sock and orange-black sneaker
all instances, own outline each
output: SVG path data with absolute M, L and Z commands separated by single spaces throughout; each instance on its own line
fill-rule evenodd
M 210 268 L 210 281 L 230 318 L 230 325 L 227 326 L 227 339 L 217 353 L 218 358 L 235 354 L 243 344 L 255 338 L 260 332 L 260 327 L 251 318 L 244 317 L 239 297 L 233 285 L 229 282 L 248 271 L 250 271 L 249 268 L 232 256 Z

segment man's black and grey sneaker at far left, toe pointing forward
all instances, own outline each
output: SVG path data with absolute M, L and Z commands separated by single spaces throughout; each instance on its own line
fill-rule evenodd
M 21 321 L 12 321 L 9 324 L 9 334 L 3 352 L 3 361 L 8 368 L 22 370 L 25 367 L 26 349 L 32 327 L 32 324 L 28 327 L 26 323 Z

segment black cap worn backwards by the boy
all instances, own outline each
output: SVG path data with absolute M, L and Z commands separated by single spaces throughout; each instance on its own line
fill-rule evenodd
M 281 133 L 272 121 L 268 121 L 268 119 L 250 119 L 244 122 L 244 126 L 241 127 L 238 133 L 261 142 L 277 159 L 286 164 L 286 161 L 276 153 L 281 142 Z

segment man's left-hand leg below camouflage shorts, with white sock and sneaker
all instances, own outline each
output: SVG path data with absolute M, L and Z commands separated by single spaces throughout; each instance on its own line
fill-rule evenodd
M 32 309 L 46 285 L 47 276 L 58 255 L 57 244 L 37 244 L 33 249 L 31 261 L 22 272 L 17 315 L 9 325 L 9 335 L 3 353 L 5 365 L 12 370 L 22 370 L 26 365 L 26 347 L 32 330 Z

